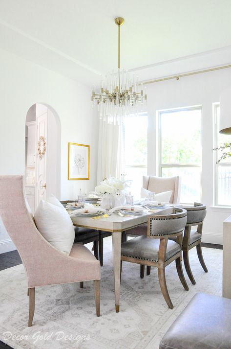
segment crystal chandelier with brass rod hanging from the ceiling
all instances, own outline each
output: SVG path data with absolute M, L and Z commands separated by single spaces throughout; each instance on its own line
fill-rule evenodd
M 100 118 L 109 124 L 119 124 L 125 116 L 136 114 L 144 101 L 147 102 L 143 83 L 139 83 L 135 74 L 131 79 L 128 71 L 120 68 L 120 27 L 124 22 L 124 18 L 115 19 L 118 25 L 118 70 L 111 70 L 101 77 L 100 92 L 95 93 L 93 87 L 91 95 L 92 107 L 97 104 Z

